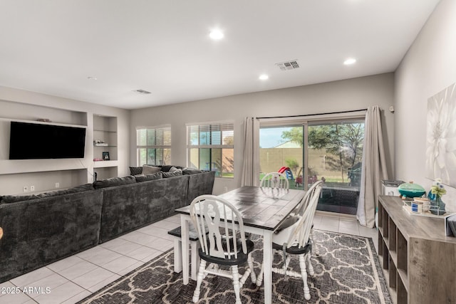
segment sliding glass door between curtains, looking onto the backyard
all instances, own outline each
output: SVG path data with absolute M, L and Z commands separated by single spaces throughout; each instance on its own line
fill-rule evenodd
M 304 121 L 260 128 L 260 175 L 282 172 L 290 188 L 323 180 L 318 210 L 356 214 L 363 155 L 363 120 Z

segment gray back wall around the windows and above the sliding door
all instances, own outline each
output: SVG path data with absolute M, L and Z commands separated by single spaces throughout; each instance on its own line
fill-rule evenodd
M 240 186 L 242 171 L 242 134 L 244 117 L 306 115 L 311 113 L 358 110 L 379 105 L 383 111 L 384 140 L 388 154 L 388 169 L 394 164 L 394 119 L 388 111 L 394 98 L 393 73 L 363 78 L 305 85 L 281 90 L 198 100 L 131 111 L 130 163 L 135 164 L 135 128 L 170 124 L 172 127 L 172 163 L 187 164 L 185 124 L 234 120 L 234 179 L 216 178 L 214 193 Z M 179 88 L 176 88 L 177 90 Z

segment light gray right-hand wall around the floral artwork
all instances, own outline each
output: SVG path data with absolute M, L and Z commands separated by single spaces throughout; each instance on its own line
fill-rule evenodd
M 455 17 L 456 1 L 440 1 L 395 73 L 395 175 L 425 189 L 427 99 L 456 83 Z M 446 189 L 443 201 L 456 211 L 456 189 Z

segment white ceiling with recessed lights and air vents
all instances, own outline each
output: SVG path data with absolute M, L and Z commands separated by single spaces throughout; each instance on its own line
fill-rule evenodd
M 133 109 L 386 73 L 438 1 L 1 0 L 0 85 Z

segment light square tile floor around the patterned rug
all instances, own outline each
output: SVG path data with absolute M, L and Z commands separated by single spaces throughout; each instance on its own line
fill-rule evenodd
M 177 226 L 180 216 L 170 216 L 1 283 L 0 303 L 76 303 L 172 248 L 173 239 L 167 231 Z M 317 211 L 314 229 L 368 236 L 377 249 L 377 230 L 360 226 L 354 217 Z

